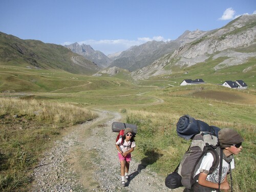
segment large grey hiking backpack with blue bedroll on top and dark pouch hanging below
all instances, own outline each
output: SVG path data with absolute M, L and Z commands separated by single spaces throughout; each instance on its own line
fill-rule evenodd
M 215 149 L 218 146 L 217 135 L 219 130 L 219 127 L 209 126 L 207 123 L 196 120 L 189 115 L 180 117 L 177 123 L 178 136 L 187 140 L 191 139 L 191 144 L 175 171 L 166 177 L 165 185 L 168 188 L 185 186 L 190 189 L 198 180 L 199 175 L 195 176 L 195 174 L 203 157 L 208 152 L 214 157 L 209 174 L 218 167 L 220 160 Z

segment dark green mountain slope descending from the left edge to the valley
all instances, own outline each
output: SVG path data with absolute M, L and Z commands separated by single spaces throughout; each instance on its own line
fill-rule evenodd
M 0 32 L 0 64 L 36 69 L 64 70 L 75 74 L 93 74 L 99 68 L 90 60 L 55 44 L 23 40 Z

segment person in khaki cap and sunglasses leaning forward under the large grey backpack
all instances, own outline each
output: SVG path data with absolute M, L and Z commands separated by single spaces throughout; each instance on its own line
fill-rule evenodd
M 230 186 L 227 181 L 227 174 L 229 170 L 231 171 L 234 168 L 233 155 L 238 155 L 242 151 L 242 141 L 244 141 L 243 138 L 236 131 L 229 128 L 221 129 L 218 132 L 219 146 L 216 150 L 219 156 L 223 158 L 220 158 L 219 166 L 214 172 L 208 174 L 214 157 L 207 153 L 196 172 L 196 175 L 200 173 L 198 182 L 193 185 L 190 191 L 219 191 L 218 189 L 228 191 Z M 220 166 L 222 166 L 221 173 L 219 173 Z M 221 178 L 220 180 L 219 177 Z

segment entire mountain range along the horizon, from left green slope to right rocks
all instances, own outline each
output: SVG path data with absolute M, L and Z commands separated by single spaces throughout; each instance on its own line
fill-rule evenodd
M 218 71 L 243 65 L 256 58 L 256 15 L 242 15 L 226 26 L 211 31 L 185 31 L 171 41 L 148 41 L 108 57 L 90 45 L 69 46 L 23 40 L 0 32 L 1 65 L 38 69 L 59 69 L 76 74 L 98 75 L 118 68 L 131 72 L 133 79 L 185 72 L 194 65 L 215 61 Z M 254 63 L 254 62 L 251 62 Z M 108 70 L 115 67 L 115 70 Z M 255 70 L 255 64 L 243 72 Z

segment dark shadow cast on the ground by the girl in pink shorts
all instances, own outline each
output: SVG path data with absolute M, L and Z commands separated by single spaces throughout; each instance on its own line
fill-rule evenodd
M 138 165 L 137 170 L 129 175 L 129 179 L 126 182 L 126 186 L 129 186 L 131 180 L 133 180 L 138 174 L 140 174 L 142 169 L 145 169 L 147 165 L 155 163 L 160 157 L 163 156 L 163 154 L 159 154 L 154 151 L 147 151 L 145 155 L 147 157 L 144 157 L 141 160 L 141 163 Z

